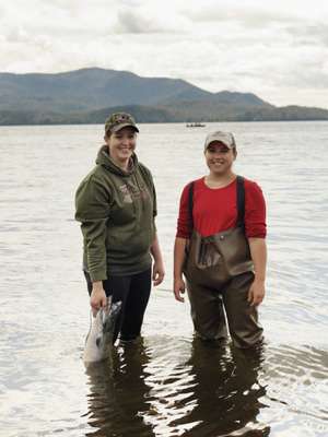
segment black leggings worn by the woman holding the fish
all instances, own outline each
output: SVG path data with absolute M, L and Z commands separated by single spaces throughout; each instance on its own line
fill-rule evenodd
M 92 282 L 87 272 L 84 272 L 89 294 L 92 292 Z M 107 296 L 112 302 L 121 300 L 121 311 L 116 320 L 113 343 L 116 339 L 134 340 L 140 335 L 143 315 L 151 291 L 151 268 L 144 272 L 127 276 L 109 276 L 103 281 Z

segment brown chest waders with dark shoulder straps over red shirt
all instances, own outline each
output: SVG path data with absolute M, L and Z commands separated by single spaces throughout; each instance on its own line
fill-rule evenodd
M 195 332 L 203 340 L 224 340 L 227 328 L 235 346 L 250 347 L 262 336 L 255 306 L 247 302 L 254 265 L 245 236 L 245 187 L 237 176 L 236 226 L 208 237 L 194 228 L 194 182 L 189 189 L 192 234 L 187 245 L 184 275 Z M 224 315 L 225 311 L 225 315 Z

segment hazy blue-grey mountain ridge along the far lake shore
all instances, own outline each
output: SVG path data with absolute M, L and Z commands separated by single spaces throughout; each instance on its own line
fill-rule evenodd
M 254 93 L 211 93 L 183 79 L 129 71 L 0 73 L 0 125 L 103 122 L 116 108 L 133 108 L 139 122 L 328 119 L 324 108 L 278 107 Z

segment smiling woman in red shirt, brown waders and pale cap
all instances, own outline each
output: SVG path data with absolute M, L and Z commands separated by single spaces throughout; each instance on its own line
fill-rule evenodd
M 198 336 L 223 340 L 229 327 L 234 345 L 249 347 L 262 339 L 257 306 L 265 297 L 266 203 L 256 182 L 233 172 L 236 156 L 232 133 L 207 137 L 210 172 L 180 198 L 174 294 L 184 302 L 185 276 Z

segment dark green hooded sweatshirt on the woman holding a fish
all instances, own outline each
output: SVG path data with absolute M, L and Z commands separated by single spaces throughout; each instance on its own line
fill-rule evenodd
M 92 281 L 130 275 L 151 265 L 156 194 L 150 170 L 131 157 L 127 172 L 102 146 L 96 166 L 75 194 L 75 218 L 83 234 L 83 268 Z

